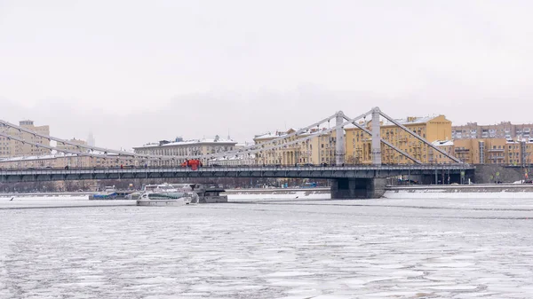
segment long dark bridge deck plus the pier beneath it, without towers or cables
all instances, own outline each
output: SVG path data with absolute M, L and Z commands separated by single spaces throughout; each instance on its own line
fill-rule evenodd
M 4 169 L 0 170 L 0 184 L 96 179 L 148 179 L 197 177 L 287 177 L 321 178 L 333 181 L 333 198 L 375 198 L 385 191 L 385 178 L 418 176 L 435 178 L 435 184 L 450 177 L 473 175 L 473 166 L 465 164 L 410 166 L 329 166 L 329 167 L 201 167 L 190 168 L 134 168 L 134 169 Z

